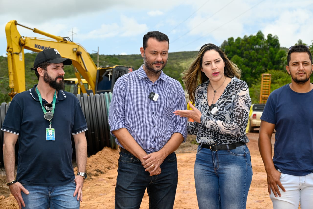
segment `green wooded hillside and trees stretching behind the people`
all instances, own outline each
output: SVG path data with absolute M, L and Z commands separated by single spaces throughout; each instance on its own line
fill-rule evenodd
M 302 44 L 301 40 L 298 43 Z M 311 45 L 312 46 L 312 45 Z M 290 76 L 285 70 L 287 49 L 281 48 L 277 36 L 268 34 L 266 37 L 259 31 L 255 35 L 230 37 L 221 45 L 228 58 L 239 66 L 242 71 L 241 79 L 249 85 L 250 97 L 253 102 L 259 101 L 260 79 L 262 73 L 272 74 L 271 90 L 291 82 Z M 311 47 L 312 49 L 312 47 Z M 138 47 L 139 53 L 139 47 Z M 187 69 L 198 51 L 170 52 L 168 62 L 163 69 L 164 73 L 182 83 L 182 72 Z M 25 53 L 25 79 L 26 89 L 37 83 L 37 77 L 29 68 L 33 67 L 37 53 Z M 97 54 L 90 54 L 97 63 Z M 143 64 L 140 54 L 137 55 L 99 55 L 100 66 L 128 65 L 138 69 Z M 74 76 L 73 66 L 65 66 L 65 78 Z M 8 102 L 8 63 L 7 58 L 0 56 L 0 101 Z

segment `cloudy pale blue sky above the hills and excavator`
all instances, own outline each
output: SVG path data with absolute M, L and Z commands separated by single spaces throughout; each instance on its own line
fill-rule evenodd
M 0 55 L 6 54 L 5 26 L 10 20 L 61 37 L 89 53 L 140 54 L 142 37 L 159 30 L 170 52 L 195 51 L 229 37 L 277 35 L 282 47 L 313 40 L 312 0 L 0 0 Z M 18 26 L 21 36 L 41 37 Z M 29 51 L 27 51 L 29 52 Z

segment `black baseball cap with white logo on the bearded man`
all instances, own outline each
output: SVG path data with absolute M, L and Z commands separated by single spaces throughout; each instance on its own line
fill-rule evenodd
M 38 65 L 44 62 L 49 63 L 63 63 L 64 65 L 72 65 L 72 60 L 62 58 L 59 51 L 53 48 L 42 50 L 35 58 L 34 67 L 30 68 L 32 71 L 36 70 Z

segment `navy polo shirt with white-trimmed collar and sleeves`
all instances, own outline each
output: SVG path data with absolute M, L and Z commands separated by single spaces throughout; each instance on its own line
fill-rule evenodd
M 33 88 L 13 98 L 2 129 L 18 134 L 16 179 L 26 185 L 59 186 L 74 180 L 71 134 L 87 130 L 87 124 L 74 94 L 58 91 L 52 126 L 55 141 L 46 140 L 50 122 L 44 119 L 38 94 Z M 42 99 L 42 104 L 47 103 Z

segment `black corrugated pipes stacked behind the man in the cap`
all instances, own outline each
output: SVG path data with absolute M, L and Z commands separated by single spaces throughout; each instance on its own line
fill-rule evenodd
M 108 123 L 109 107 L 112 98 L 112 93 L 105 92 L 104 94 L 77 94 L 76 97 L 80 101 L 80 106 L 85 115 L 88 130 L 85 132 L 87 139 L 87 152 L 89 155 L 95 154 L 102 150 L 104 147 L 116 149 L 118 146 L 115 143 L 115 137 L 110 134 L 110 126 Z M 0 129 L 4 121 L 5 114 L 7 113 L 8 104 L 3 102 L 0 107 Z M 3 131 L 0 131 L 0 163 L 3 167 Z M 75 155 L 74 140 L 73 144 L 73 158 Z M 15 146 L 15 152 L 18 153 L 18 143 Z

